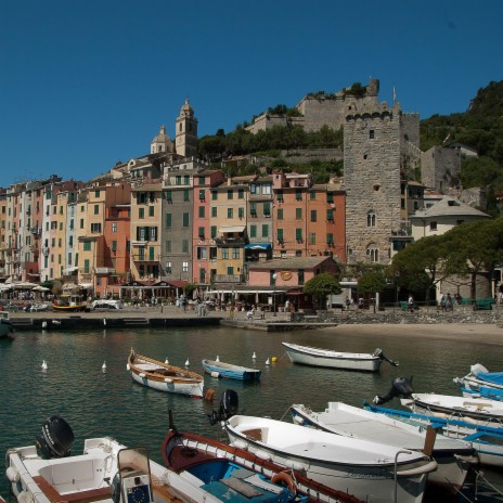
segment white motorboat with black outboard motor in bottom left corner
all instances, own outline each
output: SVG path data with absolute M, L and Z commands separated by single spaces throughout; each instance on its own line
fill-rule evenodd
M 224 500 L 149 460 L 145 448 L 108 437 L 86 439 L 70 455 L 74 437 L 60 416 L 50 417 L 36 446 L 7 452 L 7 477 L 18 503 L 172 503 Z

